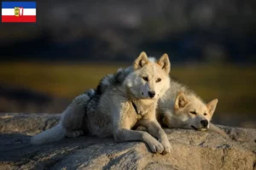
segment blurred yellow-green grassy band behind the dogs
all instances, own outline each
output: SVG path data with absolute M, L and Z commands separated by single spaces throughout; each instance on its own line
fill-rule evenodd
M 95 88 L 104 75 L 120 66 L 127 65 L 1 63 L 0 82 L 73 99 L 86 89 Z M 256 67 L 180 65 L 172 66 L 172 75 L 189 85 L 202 99 L 218 98 L 218 112 L 253 114 L 255 111 Z

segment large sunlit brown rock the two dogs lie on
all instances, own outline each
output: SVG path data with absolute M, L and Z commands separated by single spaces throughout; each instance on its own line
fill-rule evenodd
M 230 135 L 165 129 L 167 155 L 153 154 L 143 142 L 83 136 L 31 145 L 31 136 L 54 126 L 59 115 L 0 116 L 0 169 L 256 169 L 256 129 L 219 126 Z

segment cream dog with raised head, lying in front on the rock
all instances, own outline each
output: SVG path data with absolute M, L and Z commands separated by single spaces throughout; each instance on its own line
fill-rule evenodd
M 102 138 L 113 136 L 117 142 L 140 140 L 153 152 L 170 152 L 171 145 L 155 114 L 158 99 L 170 86 L 170 69 L 167 54 L 156 62 L 143 52 L 129 71 L 123 71 L 129 73 L 118 71 L 105 77 L 95 94 L 92 90 L 74 99 L 61 115 L 61 122 L 32 137 L 32 144 L 77 137 L 84 132 Z M 131 130 L 136 125 L 147 127 L 148 133 Z

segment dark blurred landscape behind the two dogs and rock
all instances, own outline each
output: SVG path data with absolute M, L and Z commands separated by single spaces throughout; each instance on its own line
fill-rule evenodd
M 61 113 L 140 52 L 206 102 L 213 122 L 256 127 L 253 0 L 44 0 L 37 23 L 0 25 L 0 112 Z

